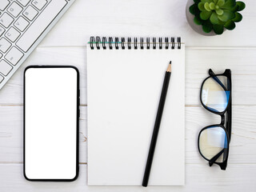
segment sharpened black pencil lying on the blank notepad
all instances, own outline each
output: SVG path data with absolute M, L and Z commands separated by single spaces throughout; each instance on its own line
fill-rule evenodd
M 146 161 L 146 169 L 144 172 L 142 186 L 147 186 L 147 184 L 149 182 L 150 170 L 151 170 L 151 166 L 152 166 L 152 162 L 153 162 L 153 158 L 154 158 L 154 149 L 155 149 L 155 146 L 156 146 L 156 143 L 158 140 L 158 132 L 159 132 L 161 119 L 162 119 L 162 111 L 165 106 L 166 94 L 167 94 L 167 90 L 168 90 L 168 86 L 169 86 L 169 82 L 170 82 L 170 74 L 171 74 L 171 62 L 166 70 L 166 76 L 165 76 L 165 80 L 164 80 L 163 86 L 162 86 L 162 94 L 161 94 L 160 102 L 158 105 L 158 114 L 157 114 L 157 117 L 154 122 L 154 131 L 153 131 L 153 135 L 151 138 L 150 150 L 149 150 L 149 154 L 148 154 L 147 161 Z

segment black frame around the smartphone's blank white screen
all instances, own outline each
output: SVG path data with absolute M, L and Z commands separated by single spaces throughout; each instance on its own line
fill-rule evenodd
M 25 89 L 26 89 L 26 70 L 29 70 L 30 68 L 72 68 L 74 70 L 76 70 L 77 72 L 77 134 L 76 134 L 76 174 L 74 176 L 74 178 L 68 178 L 68 179 L 48 179 L 48 178 L 39 178 L 39 179 L 34 179 L 34 178 L 28 178 L 26 177 L 26 170 L 25 170 L 25 166 L 26 166 L 26 158 L 25 158 L 25 131 L 26 131 L 26 127 L 25 127 L 25 110 L 26 110 L 26 103 L 25 103 Z M 79 89 L 79 79 L 80 79 L 80 74 L 79 74 L 79 70 L 77 67 L 75 66 L 27 66 L 24 70 L 24 74 L 23 74 L 23 176 L 24 178 L 26 178 L 26 180 L 30 181 L 30 182 L 74 182 L 77 178 L 78 178 L 78 174 L 79 174 L 79 117 L 80 117 L 80 110 L 79 110 L 79 106 L 80 106 L 80 89 Z

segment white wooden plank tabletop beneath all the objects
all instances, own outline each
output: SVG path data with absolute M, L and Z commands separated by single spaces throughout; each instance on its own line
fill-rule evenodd
M 0 191 L 256 191 L 256 2 L 245 2 L 243 21 L 234 31 L 215 37 L 190 29 L 186 0 L 74 2 L 0 90 Z M 186 42 L 186 186 L 86 186 L 86 41 L 91 35 L 181 35 Z M 80 70 L 80 174 L 75 182 L 27 182 L 23 178 L 22 78 L 29 65 L 74 65 Z M 220 73 L 232 70 L 234 115 L 226 171 L 208 166 L 197 148 L 198 131 L 220 122 L 218 115 L 204 110 L 199 102 L 199 89 L 209 68 Z

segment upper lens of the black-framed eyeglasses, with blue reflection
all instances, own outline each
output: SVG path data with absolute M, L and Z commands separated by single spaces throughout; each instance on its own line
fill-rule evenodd
M 201 99 L 207 109 L 215 112 L 223 112 L 230 99 L 230 88 L 228 78 L 225 76 L 214 76 L 207 78 L 202 86 Z

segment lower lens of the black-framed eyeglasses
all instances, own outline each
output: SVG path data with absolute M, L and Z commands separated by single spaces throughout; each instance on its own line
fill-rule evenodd
M 215 158 L 215 162 L 224 162 L 227 147 L 226 132 L 220 126 L 211 126 L 199 135 L 199 150 L 207 160 Z

